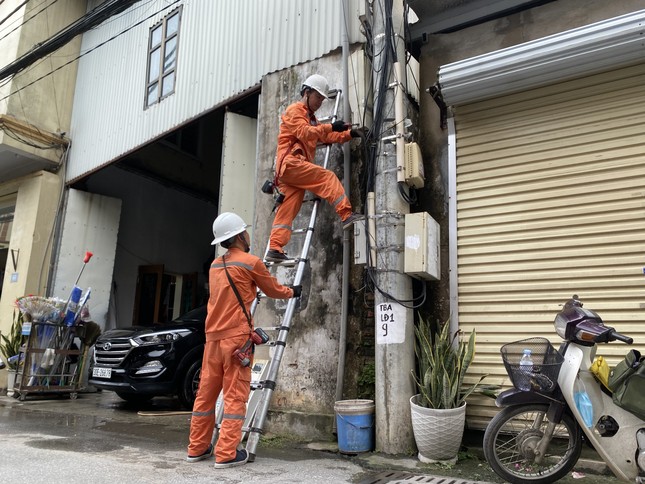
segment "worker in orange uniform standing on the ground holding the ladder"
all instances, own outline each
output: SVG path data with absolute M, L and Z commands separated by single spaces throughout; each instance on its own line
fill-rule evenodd
M 224 414 L 215 448 L 216 468 L 238 466 L 249 457 L 246 449 L 237 450 L 237 446 L 242 439 L 253 361 L 250 355 L 250 362 L 244 366 L 234 352 L 247 343 L 253 331 L 249 315 L 257 288 L 267 296 L 279 299 L 300 297 L 302 291 L 301 286 L 279 284 L 262 260 L 249 254 L 247 227 L 238 215 L 230 212 L 222 213 L 213 222 L 215 239 L 211 245 L 221 243 L 228 251 L 213 261 L 209 271 L 206 346 L 190 421 L 186 460 L 197 462 L 213 455 L 215 404 L 220 391 L 224 390 Z

